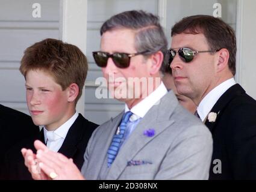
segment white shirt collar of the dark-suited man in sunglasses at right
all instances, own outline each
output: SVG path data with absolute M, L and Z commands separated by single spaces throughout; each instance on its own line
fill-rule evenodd
M 236 81 L 234 78 L 228 79 L 220 85 L 216 86 L 213 90 L 211 90 L 202 101 L 199 103 L 198 106 L 198 115 L 200 116 L 201 120 L 204 121 L 208 113 L 210 113 L 211 109 L 213 108 L 214 104 L 219 100 L 221 95 L 223 95 L 226 90 L 228 90 L 231 86 L 235 85 Z

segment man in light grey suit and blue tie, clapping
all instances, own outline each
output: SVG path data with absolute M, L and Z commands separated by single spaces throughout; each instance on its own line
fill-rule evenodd
M 126 11 L 108 19 L 101 27 L 101 51 L 93 57 L 125 110 L 94 131 L 81 172 L 39 141 L 37 154 L 23 149 L 33 178 L 208 179 L 211 134 L 161 82 L 166 49 L 156 16 Z M 41 174 L 32 171 L 36 158 Z

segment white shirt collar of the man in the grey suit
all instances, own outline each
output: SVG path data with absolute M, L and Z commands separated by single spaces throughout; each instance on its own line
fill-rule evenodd
M 140 101 L 136 106 L 132 107 L 131 110 L 125 104 L 125 112 L 130 110 L 135 115 L 139 116 L 139 118 L 143 118 L 146 113 L 151 109 L 154 104 L 157 103 L 165 94 L 167 93 L 167 89 L 164 86 L 163 82 L 161 82 L 160 86 L 158 86 L 155 91 L 151 92 L 146 98 Z

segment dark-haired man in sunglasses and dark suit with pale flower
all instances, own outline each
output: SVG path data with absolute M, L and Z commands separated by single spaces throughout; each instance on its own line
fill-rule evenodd
M 235 82 L 236 36 L 221 19 L 190 16 L 172 28 L 170 67 L 179 94 L 213 135 L 210 179 L 256 179 L 256 101 Z

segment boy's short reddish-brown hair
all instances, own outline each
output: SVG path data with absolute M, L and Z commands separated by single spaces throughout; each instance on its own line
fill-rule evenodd
M 28 71 L 43 70 L 54 77 L 63 91 L 71 83 L 76 83 L 79 87 L 76 104 L 82 95 L 88 65 L 86 56 L 78 47 L 47 38 L 25 50 L 19 70 L 25 79 Z

